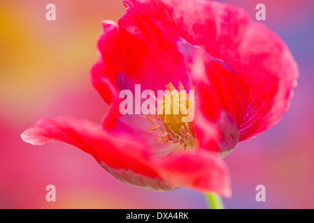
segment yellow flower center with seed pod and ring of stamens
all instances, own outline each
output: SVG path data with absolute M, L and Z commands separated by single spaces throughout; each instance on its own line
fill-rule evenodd
M 191 90 L 194 94 L 194 87 Z M 191 91 L 190 90 L 190 91 Z M 165 91 L 164 91 L 165 92 Z M 190 93 L 190 92 L 189 92 Z M 166 93 L 162 100 L 157 100 L 157 109 L 150 116 L 141 116 L 154 125 L 150 130 L 159 130 L 158 143 L 180 144 L 186 150 L 193 148 L 194 130 L 191 116 L 194 117 L 194 95 L 185 92 L 179 82 L 179 91 L 172 83 L 166 84 Z

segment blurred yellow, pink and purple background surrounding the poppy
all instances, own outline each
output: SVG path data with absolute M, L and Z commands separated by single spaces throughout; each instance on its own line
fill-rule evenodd
M 314 208 L 314 2 L 230 0 L 266 21 L 285 40 L 301 77 L 292 107 L 276 127 L 238 144 L 225 160 L 233 197 L 226 208 Z M 45 20 L 55 3 L 57 20 Z M 0 208 L 207 208 L 202 194 L 149 192 L 120 183 L 82 151 L 60 143 L 37 147 L 20 134 L 40 117 L 99 122 L 106 105 L 90 84 L 102 20 L 117 21 L 122 0 L 0 1 Z M 45 200 L 55 185 L 57 202 Z M 266 202 L 255 187 L 266 186 Z

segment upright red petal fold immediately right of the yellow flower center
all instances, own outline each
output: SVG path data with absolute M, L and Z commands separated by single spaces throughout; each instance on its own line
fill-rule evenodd
M 220 148 L 220 153 L 227 155 L 238 143 L 238 128 L 245 115 L 248 89 L 233 70 L 202 49 L 195 49 L 190 57 L 190 73 L 197 95 L 196 134 L 200 145 L 212 150 Z M 219 137 L 215 136 L 217 131 L 220 131 Z M 210 139 L 217 143 L 208 146 Z

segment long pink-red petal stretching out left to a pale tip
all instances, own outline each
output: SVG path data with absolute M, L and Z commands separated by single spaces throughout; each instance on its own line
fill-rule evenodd
M 102 167 L 116 178 L 150 190 L 173 190 L 153 169 L 149 149 L 128 135 L 105 132 L 94 123 L 70 117 L 39 120 L 21 135 L 33 145 L 63 141 L 92 155 Z M 154 184 L 155 183 L 155 184 Z

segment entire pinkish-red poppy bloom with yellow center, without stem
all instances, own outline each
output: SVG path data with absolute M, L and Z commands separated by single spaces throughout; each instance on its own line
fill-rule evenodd
M 290 50 L 264 24 L 229 4 L 126 0 L 124 5 L 127 12 L 117 24 L 103 22 L 99 61 L 92 68 L 92 84 L 110 105 L 101 123 L 43 118 L 22 139 L 76 146 L 118 180 L 148 190 L 186 187 L 229 197 L 222 157 L 239 141 L 276 125 L 290 107 L 299 75 Z M 155 109 L 122 115 L 120 93 L 136 94 L 136 84 L 153 93 L 169 90 L 156 100 L 170 114 Z M 183 89 L 194 109 L 192 121 L 171 112 Z M 132 108 L 150 105 L 143 103 L 137 100 Z

